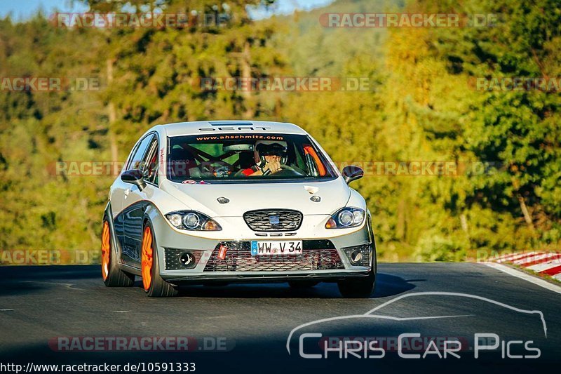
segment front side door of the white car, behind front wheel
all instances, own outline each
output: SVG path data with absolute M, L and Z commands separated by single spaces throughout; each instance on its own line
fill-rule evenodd
M 146 187 L 140 191 L 135 185 L 131 185 L 130 192 L 126 196 L 128 210 L 126 214 L 126 237 L 125 243 L 128 248 L 128 260 L 131 265 L 140 267 L 140 248 L 142 246 L 142 221 L 144 212 L 149 204 L 154 189 L 158 188 L 158 137 L 153 135 L 147 152 L 142 157 L 139 170 L 144 175 Z

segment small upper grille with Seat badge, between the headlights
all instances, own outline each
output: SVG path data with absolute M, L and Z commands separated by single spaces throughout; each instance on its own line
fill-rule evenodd
M 288 209 L 249 211 L 243 219 L 253 231 L 292 231 L 302 225 L 302 213 Z

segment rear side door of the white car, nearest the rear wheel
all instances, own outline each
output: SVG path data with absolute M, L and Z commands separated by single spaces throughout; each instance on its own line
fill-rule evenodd
M 125 167 L 126 171 L 142 170 L 142 160 L 144 159 L 144 156 L 146 155 L 153 140 L 154 133 L 150 133 L 137 143 L 135 150 L 133 151 L 132 156 L 130 156 L 130 159 Z M 115 220 L 116 226 L 119 226 L 116 228 L 116 235 L 121 243 L 121 260 L 127 265 L 136 266 L 139 260 L 137 258 L 137 254 L 135 253 L 135 246 L 133 245 L 134 241 L 130 236 L 135 235 L 135 226 L 137 225 L 137 222 L 135 222 L 134 214 L 135 209 L 137 209 L 136 203 L 138 201 L 131 199 L 130 194 L 131 192 L 138 191 L 138 187 L 122 181 L 120 181 L 120 183 L 123 183 L 123 192 L 121 197 L 123 210 Z

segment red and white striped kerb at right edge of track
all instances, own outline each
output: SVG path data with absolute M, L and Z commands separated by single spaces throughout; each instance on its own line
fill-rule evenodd
M 548 290 L 561 293 L 560 286 L 525 272 L 520 272 L 518 269 L 508 267 L 505 264 L 518 265 L 519 267 L 531 270 L 536 273 L 536 275 L 548 275 L 558 281 L 561 281 L 561 252 L 530 251 L 509 253 L 489 259 L 489 262 L 485 262 L 485 265 L 501 270 L 501 272 L 506 272 L 507 274 L 525 279 L 526 281 L 530 281 L 538 286 L 547 288 Z

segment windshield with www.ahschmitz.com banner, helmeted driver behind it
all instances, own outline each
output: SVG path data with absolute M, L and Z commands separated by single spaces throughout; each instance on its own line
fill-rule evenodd
M 173 182 L 326 180 L 337 177 L 306 135 L 229 134 L 168 138 Z

